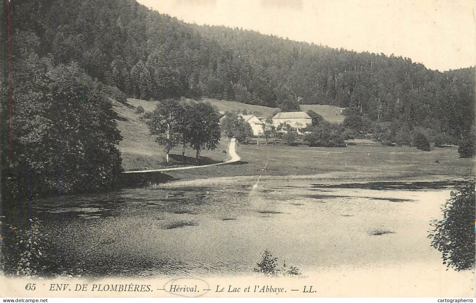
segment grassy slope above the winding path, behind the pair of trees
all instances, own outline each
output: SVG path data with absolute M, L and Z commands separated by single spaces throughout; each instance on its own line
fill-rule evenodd
M 118 129 L 123 137 L 119 143 L 119 151 L 122 155 L 122 167 L 124 170 L 155 169 L 166 167 L 165 152 L 162 146 L 154 141 L 155 137 L 149 135 L 149 128 L 137 114 L 136 107 L 141 105 L 145 111 L 152 111 L 156 102 L 149 102 L 137 99 L 129 99 L 128 107 L 119 102 L 113 104 L 113 109 L 118 113 Z M 227 150 L 227 141 L 221 140 L 215 151 L 202 151 L 198 164 L 208 164 L 213 162 L 223 162 L 228 160 L 228 154 L 222 151 Z M 186 149 L 185 155 L 181 157 L 181 146 L 174 148 L 171 154 L 170 166 L 182 166 L 195 164 L 195 151 Z

